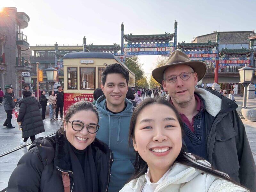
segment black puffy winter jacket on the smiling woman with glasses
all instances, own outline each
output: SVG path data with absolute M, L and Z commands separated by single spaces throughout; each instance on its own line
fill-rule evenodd
M 107 144 L 98 139 L 95 139 L 91 145 L 95 164 L 98 165 L 95 174 L 98 175 L 99 192 L 106 192 L 113 153 Z M 40 137 L 21 157 L 17 167 L 12 172 L 7 191 L 63 192 L 61 172 L 69 173 L 71 190 L 72 186 L 76 185 L 71 170 L 68 141 L 65 136 L 57 132 L 52 137 Z

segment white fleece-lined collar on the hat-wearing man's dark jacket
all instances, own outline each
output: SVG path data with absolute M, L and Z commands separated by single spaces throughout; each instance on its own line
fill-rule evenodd
M 195 87 L 195 93 L 199 94 L 204 99 L 205 110 L 214 117 L 217 116 L 223 108 L 234 110 L 238 107 L 234 101 L 212 89 Z M 169 94 L 166 96 L 166 99 L 170 101 L 171 97 Z M 227 105 L 223 106 L 225 104 Z

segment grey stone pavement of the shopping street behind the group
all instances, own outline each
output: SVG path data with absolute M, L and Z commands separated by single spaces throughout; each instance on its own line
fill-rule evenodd
M 235 98 L 238 105 L 243 104 L 242 97 Z M 248 107 L 256 108 L 256 99 L 250 99 L 247 102 Z M 46 118 L 49 118 L 46 116 Z M 14 148 L 20 147 L 20 140 L 22 137 L 21 131 L 18 129 L 17 123 L 12 120 L 14 129 L 9 129 L 3 126 L 6 119 L 6 113 L 4 107 L 0 106 L 0 156 Z M 245 125 L 246 134 L 252 149 L 254 162 L 256 163 L 256 122 L 249 122 L 242 120 Z M 50 134 L 54 134 L 58 127 L 60 127 L 60 120 L 50 122 L 50 120 L 44 122 L 45 132 L 36 135 L 38 137 L 44 137 Z M 29 144 L 30 139 L 28 139 Z M 0 191 L 7 187 L 8 180 L 12 174 L 12 171 L 17 166 L 21 156 L 28 151 L 29 146 L 14 151 L 8 155 L 0 157 Z

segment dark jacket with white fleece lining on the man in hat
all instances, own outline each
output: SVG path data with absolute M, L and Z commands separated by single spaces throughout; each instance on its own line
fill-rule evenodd
M 256 167 L 237 104 L 212 89 L 195 87 L 205 101 L 207 155 L 212 166 L 256 191 Z M 170 100 L 170 96 L 166 97 Z M 189 151 L 188 151 L 189 152 Z

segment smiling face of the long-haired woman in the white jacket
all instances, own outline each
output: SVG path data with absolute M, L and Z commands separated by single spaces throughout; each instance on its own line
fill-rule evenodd
M 163 104 L 151 104 L 142 109 L 132 140 L 135 151 L 147 162 L 150 170 L 167 171 L 182 146 L 181 127 L 174 111 Z

